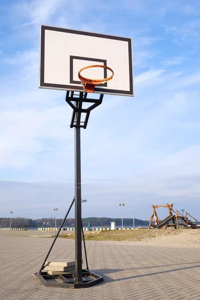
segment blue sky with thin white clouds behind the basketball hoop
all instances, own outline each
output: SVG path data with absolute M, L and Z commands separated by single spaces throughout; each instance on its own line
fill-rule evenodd
M 168 202 L 200 219 L 199 15 L 198 0 L 0 0 L 0 216 L 62 217 L 74 194 L 71 108 L 38 89 L 46 24 L 132 38 L 135 96 L 105 95 L 81 131 L 82 215 Z

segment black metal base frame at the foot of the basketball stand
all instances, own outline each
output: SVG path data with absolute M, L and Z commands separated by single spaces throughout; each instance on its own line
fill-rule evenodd
M 47 272 L 35 274 L 45 286 L 83 288 L 90 287 L 103 281 L 103 277 L 82 269 L 82 282 L 75 283 L 75 273 L 64 273 L 60 275 L 49 275 Z

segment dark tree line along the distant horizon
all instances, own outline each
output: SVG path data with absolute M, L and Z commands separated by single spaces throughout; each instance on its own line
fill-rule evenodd
M 59 227 L 62 223 L 62 218 L 56 218 L 56 227 Z M 82 225 L 86 227 L 88 222 L 91 222 L 93 227 L 95 226 L 110 226 L 112 221 L 115 222 L 116 226 L 121 225 L 121 218 L 112 219 L 110 217 L 83 217 L 82 218 Z M 141 219 L 134 219 L 135 226 L 146 226 L 148 225 L 149 221 L 141 220 Z M 8 217 L 0 217 L 0 226 L 1 227 L 9 227 L 10 225 L 10 218 Z M 74 226 L 75 219 L 74 218 L 67 218 L 64 222 L 64 227 Z M 124 226 L 133 226 L 133 219 L 132 218 L 123 218 L 123 225 Z M 40 218 L 40 219 L 31 219 L 25 217 L 13 217 L 11 218 L 11 226 L 12 227 L 54 227 L 55 226 L 55 218 Z

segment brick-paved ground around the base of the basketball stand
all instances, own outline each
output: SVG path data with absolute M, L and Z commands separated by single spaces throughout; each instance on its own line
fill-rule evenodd
M 33 275 L 51 242 L 52 238 L 0 232 L 0 300 L 200 299 L 198 248 L 86 241 L 89 268 L 104 281 L 71 289 L 45 287 Z M 65 258 L 74 259 L 74 241 L 60 238 L 49 260 Z

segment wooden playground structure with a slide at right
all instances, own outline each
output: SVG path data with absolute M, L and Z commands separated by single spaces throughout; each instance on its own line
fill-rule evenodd
M 197 220 L 191 216 L 188 212 L 185 212 L 185 215 L 183 214 L 184 209 L 181 209 L 182 213 L 178 210 L 173 210 L 173 203 L 166 205 L 152 205 L 151 206 L 153 211 L 150 216 L 150 221 L 148 225 L 148 229 L 150 228 L 162 228 L 164 226 L 164 229 L 167 227 L 173 227 L 174 229 L 179 228 L 191 228 L 191 229 L 197 229 L 200 228 L 200 225 L 197 224 Z M 165 207 L 165 209 L 168 209 L 168 215 L 165 219 L 159 220 L 158 213 L 156 211 L 156 208 L 158 207 Z M 152 220 L 154 217 L 155 224 L 152 225 Z

